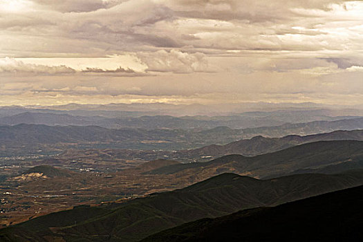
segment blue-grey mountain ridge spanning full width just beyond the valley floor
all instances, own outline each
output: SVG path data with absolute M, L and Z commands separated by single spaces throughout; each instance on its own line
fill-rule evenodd
M 285 127 L 285 128 L 284 128 Z M 287 127 L 287 128 L 286 128 Z M 292 127 L 292 128 L 291 128 Z M 286 124 L 281 127 L 264 127 L 257 129 L 229 129 L 227 127 L 198 131 L 195 129 L 106 129 L 97 126 L 47 126 L 44 124 L 17 124 L 14 126 L 0 126 L 0 145 L 41 145 L 41 144 L 75 144 L 88 143 L 117 143 L 122 149 L 191 149 L 204 145 L 229 143 L 235 140 L 252 138 L 253 136 L 281 137 L 294 133 L 322 133 L 337 129 L 354 130 L 363 129 L 363 118 L 350 120 L 338 120 L 332 122 L 311 122 L 306 124 Z M 337 139 L 343 139 L 338 137 Z M 353 137 L 353 136 L 352 136 Z M 308 139 L 308 138 L 306 138 Z M 313 138 L 312 138 L 313 139 Z M 333 139 L 333 138 L 331 138 Z M 318 140 L 318 139 L 317 139 Z M 257 148 L 251 145 L 256 141 Z M 243 154 L 252 156 L 263 152 L 283 149 L 291 145 L 304 142 L 297 136 L 284 138 L 283 140 L 266 140 L 254 138 L 250 143 L 250 153 L 247 150 Z M 264 143 L 266 147 L 263 146 Z M 274 142 L 277 142 L 274 144 Z M 310 142 L 310 141 L 309 141 Z M 214 147 L 224 149 L 224 153 L 235 153 L 233 147 L 239 143 L 227 147 Z M 204 148 L 209 149 L 209 148 Z M 255 149 L 255 150 L 254 150 Z M 240 149 L 239 152 L 241 152 Z M 190 151 L 192 152 L 192 151 Z M 195 151 L 198 153 L 198 151 Z M 223 154 L 222 152 L 222 154 Z M 202 152 L 203 153 L 203 152 Z M 221 151 L 219 151 L 221 153 Z M 207 154 L 208 156 L 210 154 Z

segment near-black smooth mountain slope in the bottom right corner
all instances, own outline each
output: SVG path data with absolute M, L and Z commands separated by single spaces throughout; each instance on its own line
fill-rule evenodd
M 362 241 L 363 186 L 203 218 L 142 241 Z

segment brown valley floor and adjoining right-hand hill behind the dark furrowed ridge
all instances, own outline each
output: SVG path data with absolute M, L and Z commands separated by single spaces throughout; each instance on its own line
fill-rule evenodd
M 120 165 L 112 156 L 109 159 L 113 162 L 107 159 L 100 162 L 100 153 L 83 153 L 80 160 L 88 161 L 77 160 L 82 162 L 82 166 L 77 167 L 72 165 L 74 156 L 70 156 L 74 153 L 68 152 L 63 159 L 46 159 L 40 163 L 47 165 L 26 171 L 21 166 L 3 170 L 3 174 L 8 175 L 0 187 L 3 194 L 1 223 L 7 226 L 77 205 L 123 203 L 156 192 L 180 189 L 225 172 L 272 178 L 302 174 L 304 169 L 308 173 L 326 174 L 363 169 L 362 151 L 362 141 L 320 141 L 260 156 L 229 155 L 208 162 L 130 161 L 127 168 L 119 167 L 118 171 L 104 169 Z M 10 176 L 9 171 L 13 172 Z

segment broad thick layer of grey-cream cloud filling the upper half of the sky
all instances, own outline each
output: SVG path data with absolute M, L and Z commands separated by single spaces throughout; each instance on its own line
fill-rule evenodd
M 360 46 L 360 29 L 352 28 L 359 26 L 360 4 L 340 0 L 34 2 L 32 11 L 0 19 L 0 26 L 11 32 L 1 39 L 12 38 L 2 41 L 3 48 L 22 46 L 21 53 L 43 55 L 101 56 L 170 48 L 203 53 L 344 50 L 347 41 L 356 43 L 354 48 Z M 339 5 L 333 7 L 333 3 Z M 69 9 L 55 12 L 59 6 Z M 30 38 L 33 44 L 27 41 Z M 64 44 L 59 44 L 61 39 Z

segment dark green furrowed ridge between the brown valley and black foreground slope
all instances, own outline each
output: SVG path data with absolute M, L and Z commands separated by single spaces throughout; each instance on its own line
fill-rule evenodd
M 302 174 L 272 180 L 223 174 L 184 189 L 151 194 L 127 203 L 75 207 L 34 218 L 0 230 L 0 239 L 138 241 L 198 218 L 278 205 L 362 183 L 362 171 L 337 175 Z

